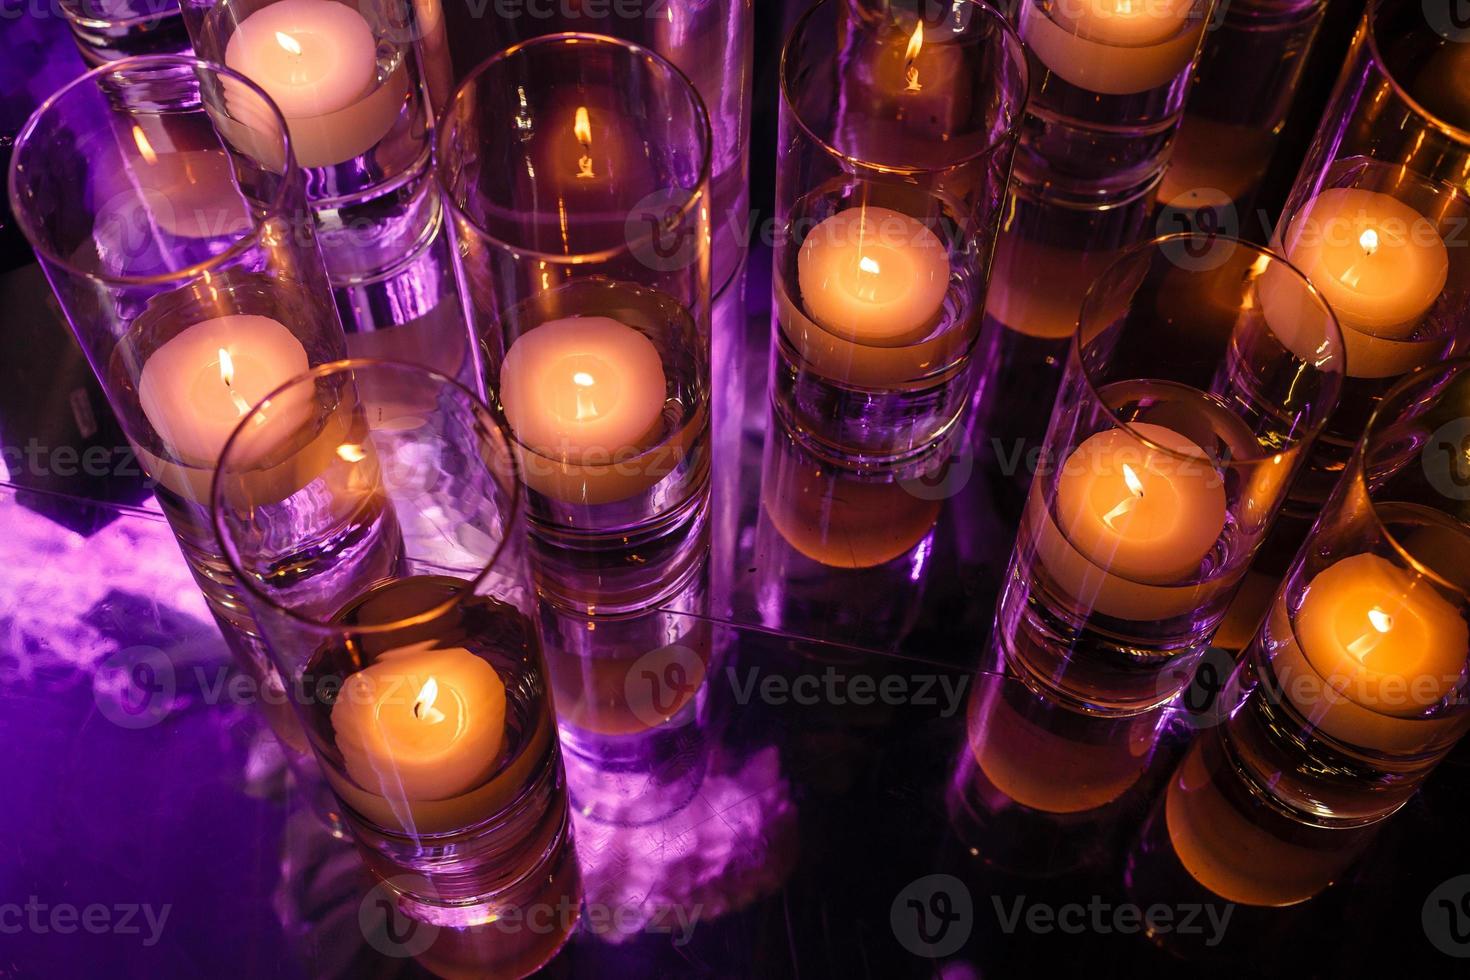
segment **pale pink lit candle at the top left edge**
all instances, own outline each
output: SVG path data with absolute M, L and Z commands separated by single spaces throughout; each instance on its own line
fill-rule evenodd
M 260 85 L 285 116 L 301 166 L 343 163 L 392 128 L 403 68 L 378 84 L 378 38 L 335 0 L 278 0 L 240 22 L 225 65 Z

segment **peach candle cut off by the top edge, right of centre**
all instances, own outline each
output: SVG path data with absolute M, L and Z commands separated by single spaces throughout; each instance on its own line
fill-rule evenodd
M 1195 0 L 1023 0 L 1020 37 L 1078 88 L 1129 96 L 1179 78 L 1204 32 Z

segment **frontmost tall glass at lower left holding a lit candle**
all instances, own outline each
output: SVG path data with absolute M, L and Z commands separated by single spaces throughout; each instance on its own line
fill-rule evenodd
M 368 867 L 440 926 L 575 908 L 509 435 L 392 361 L 323 364 L 270 401 L 298 411 L 241 422 L 215 529 Z M 528 976 L 563 926 L 507 933 L 491 973 Z

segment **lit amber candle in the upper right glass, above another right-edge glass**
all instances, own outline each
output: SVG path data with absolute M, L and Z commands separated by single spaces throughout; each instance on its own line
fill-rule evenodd
M 1314 197 L 1285 237 L 1286 259 L 1338 316 L 1354 378 L 1392 378 L 1433 359 L 1439 344 L 1413 334 L 1445 289 L 1449 253 L 1433 222 L 1402 201 L 1357 188 Z M 1289 272 L 1261 276 L 1261 311 L 1282 342 L 1311 360 L 1320 317 L 1302 316 Z

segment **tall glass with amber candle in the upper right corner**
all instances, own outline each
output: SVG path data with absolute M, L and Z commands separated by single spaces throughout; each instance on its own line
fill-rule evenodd
M 1263 555 L 1277 580 L 1379 400 L 1405 373 L 1470 344 L 1470 131 L 1461 128 L 1470 125 L 1470 103 L 1454 94 L 1454 66 L 1466 63 L 1455 59 L 1466 46 L 1445 37 L 1452 6 L 1369 6 L 1276 225 L 1273 247 L 1338 314 L 1348 375 Z M 1260 301 L 1267 317 L 1295 316 L 1270 279 L 1260 284 Z

